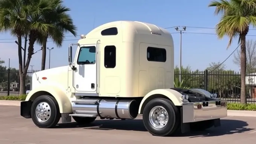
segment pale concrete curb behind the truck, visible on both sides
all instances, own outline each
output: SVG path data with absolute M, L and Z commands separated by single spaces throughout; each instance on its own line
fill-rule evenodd
M 6 101 L 6 100 L 0 100 L 0 105 L 20 106 L 20 102 L 21 102 L 21 101 Z M 139 114 L 138 116 L 141 116 L 141 114 Z M 227 110 L 227 116 L 256 117 L 256 111 Z

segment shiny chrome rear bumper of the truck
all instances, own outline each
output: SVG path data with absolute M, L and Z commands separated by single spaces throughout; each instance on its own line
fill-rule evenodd
M 227 117 L 227 101 L 183 103 L 183 123 Z

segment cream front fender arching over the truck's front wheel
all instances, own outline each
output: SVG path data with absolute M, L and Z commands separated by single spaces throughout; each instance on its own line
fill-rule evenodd
M 25 101 L 34 101 L 38 96 L 46 95 L 47 93 L 50 93 L 58 102 L 60 113 L 72 113 L 72 105 L 69 96 L 56 86 L 43 85 L 36 87 L 27 94 Z

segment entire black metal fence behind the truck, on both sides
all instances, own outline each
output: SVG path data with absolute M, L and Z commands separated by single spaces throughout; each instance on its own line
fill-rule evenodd
M 33 71 L 36 72 L 36 71 Z M 32 71 L 27 72 L 26 89 L 30 87 Z M 245 78 L 247 103 L 256 104 L 256 73 L 247 74 Z M 186 71 L 174 74 L 175 87 L 199 88 L 217 93 L 218 98 L 240 102 L 241 74 L 233 71 Z M 0 96 L 19 95 L 19 72 L 18 70 L 6 69 L 0 71 Z

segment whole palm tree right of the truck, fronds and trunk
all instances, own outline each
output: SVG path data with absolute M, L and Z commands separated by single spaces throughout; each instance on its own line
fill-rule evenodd
M 246 104 L 245 74 L 246 74 L 246 48 L 245 37 L 249 26 L 256 26 L 256 0 L 213 0 L 209 7 L 215 7 L 215 14 L 221 15 L 221 20 L 216 26 L 216 33 L 221 39 L 229 37 L 227 48 L 234 38 L 238 37 L 241 45 L 241 103 Z

